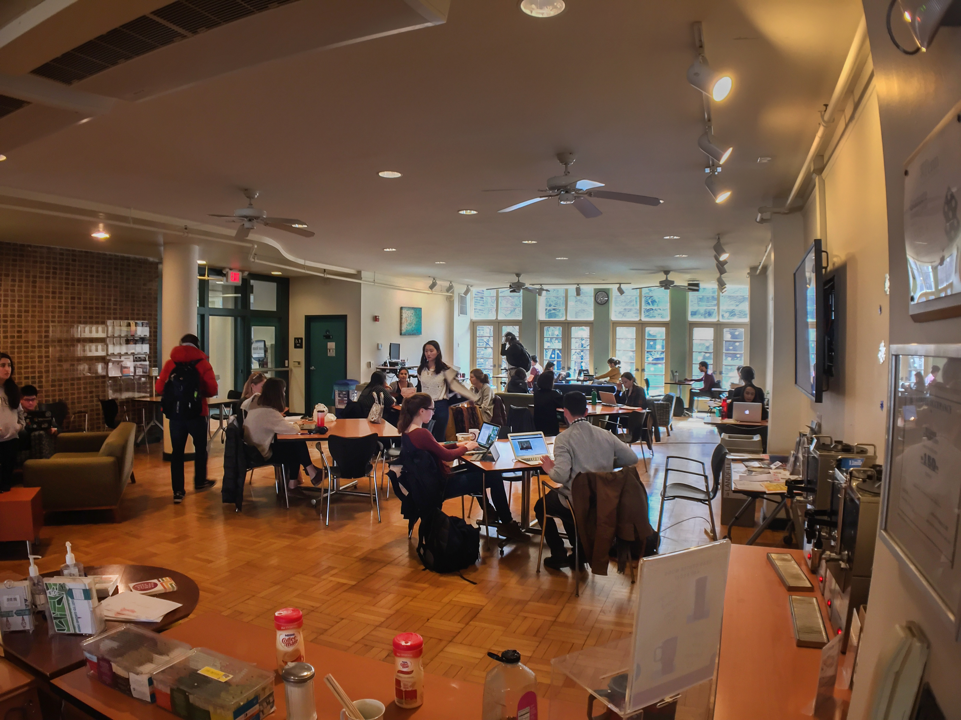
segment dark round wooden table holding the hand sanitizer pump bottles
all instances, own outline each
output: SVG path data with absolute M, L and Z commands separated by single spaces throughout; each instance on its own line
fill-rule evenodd
M 139 626 L 160 633 L 175 622 L 188 617 L 197 607 L 200 600 L 200 588 L 185 574 L 170 570 L 166 567 L 153 565 L 97 565 L 84 568 L 87 575 L 119 575 L 118 592 L 125 592 L 131 583 L 157 578 L 173 578 L 177 589 L 159 595 L 164 600 L 180 603 L 181 607 L 167 612 L 160 622 L 140 623 Z M 44 577 L 59 575 L 60 571 L 45 572 Z M 4 654 L 19 664 L 32 670 L 35 674 L 50 679 L 69 672 L 84 663 L 84 654 L 80 650 L 80 643 L 86 640 L 85 635 L 47 635 L 47 621 L 37 617 L 37 625 L 33 633 L 7 633 L 3 636 Z M 108 622 L 108 627 L 119 623 Z

